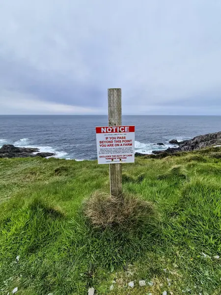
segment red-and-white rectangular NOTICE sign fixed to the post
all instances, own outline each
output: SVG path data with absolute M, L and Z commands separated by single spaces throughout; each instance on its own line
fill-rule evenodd
M 96 127 L 98 164 L 134 163 L 135 126 Z

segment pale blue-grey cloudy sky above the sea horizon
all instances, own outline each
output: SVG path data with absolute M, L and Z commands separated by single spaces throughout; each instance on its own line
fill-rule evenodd
M 220 0 L 0 0 L 0 114 L 221 115 Z

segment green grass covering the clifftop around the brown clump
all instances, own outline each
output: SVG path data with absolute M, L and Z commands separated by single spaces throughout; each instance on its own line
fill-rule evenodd
M 156 220 L 93 227 L 83 204 L 109 192 L 96 161 L 0 159 L 0 295 L 220 295 L 221 148 L 138 157 L 123 174 Z

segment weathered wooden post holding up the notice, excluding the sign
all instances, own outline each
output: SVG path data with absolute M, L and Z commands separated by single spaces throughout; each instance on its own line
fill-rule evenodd
M 108 89 L 108 120 L 109 126 L 121 126 L 121 89 Z M 110 166 L 110 191 L 112 196 L 122 194 L 122 166 L 121 164 L 109 164 Z

